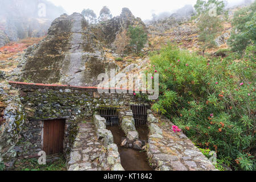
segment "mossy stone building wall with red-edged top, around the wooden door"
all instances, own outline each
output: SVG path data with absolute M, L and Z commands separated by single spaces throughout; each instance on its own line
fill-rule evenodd
M 42 150 L 43 121 L 65 119 L 64 154 L 69 157 L 77 133 L 77 125 L 91 120 L 100 106 L 117 106 L 118 111 L 141 103 L 133 94 L 99 94 L 97 88 L 69 85 L 28 84 L 9 82 L 20 90 L 20 100 L 27 115 L 27 125 L 21 132 L 16 148 L 18 156 L 32 158 Z

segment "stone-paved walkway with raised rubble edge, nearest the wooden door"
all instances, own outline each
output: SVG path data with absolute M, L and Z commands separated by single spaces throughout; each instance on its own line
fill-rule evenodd
M 80 123 L 68 160 L 68 171 L 123 171 L 118 147 L 106 119 L 96 115 L 94 122 Z

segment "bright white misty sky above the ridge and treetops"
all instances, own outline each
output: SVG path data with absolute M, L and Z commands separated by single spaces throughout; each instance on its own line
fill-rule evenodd
M 184 5 L 195 5 L 196 0 L 48 0 L 57 6 L 62 6 L 68 14 L 81 13 L 82 9 L 92 9 L 98 15 L 103 6 L 108 6 L 113 16 L 121 14 L 123 7 L 128 7 L 131 12 L 145 19 L 151 19 L 152 13 L 174 11 Z M 237 3 L 242 0 L 227 0 Z

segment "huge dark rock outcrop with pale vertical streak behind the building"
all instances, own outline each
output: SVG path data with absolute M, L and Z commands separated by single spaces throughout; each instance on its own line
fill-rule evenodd
M 129 9 L 120 16 L 89 26 L 79 13 L 61 15 L 49 28 L 48 35 L 23 56 L 19 81 L 96 86 L 97 76 L 119 69 L 106 56 L 104 47 L 112 48 L 115 36 L 129 25 L 145 27 Z

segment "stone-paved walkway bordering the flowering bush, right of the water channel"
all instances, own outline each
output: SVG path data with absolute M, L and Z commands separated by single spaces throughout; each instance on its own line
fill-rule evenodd
M 150 163 L 159 171 L 211 171 L 213 164 L 181 131 L 174 133 L 174 125 L 167 118 L 155 118 L 148 114 L 150 137 L 147 155 Z

